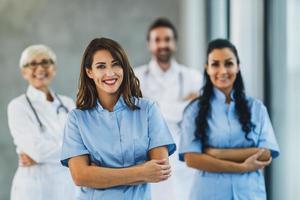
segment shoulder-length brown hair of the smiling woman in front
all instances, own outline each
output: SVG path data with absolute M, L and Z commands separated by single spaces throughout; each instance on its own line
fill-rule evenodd
M 91 68 L 94 54 L 100 50 L 109 51 L 112 57 L 122 66 L 124 78 L 119 88 L 119 92 L 122 94 L 126 105 L 131 110 L 138 109 L 134 104 L 132 97 L 142 97 L 139 80 L 134 75 L 124 49 L 116 41 L 108 38 L 93 39 L 84 51 L 76 99 L 77 108 L 85 110 L 91 109 L 96 105 L 98 98 L 96 86 L 94 81 L 87 76 L 86 68 Z

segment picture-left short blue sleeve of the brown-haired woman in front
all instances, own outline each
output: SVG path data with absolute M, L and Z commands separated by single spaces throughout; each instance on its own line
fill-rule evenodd
M 68 115 L 68 120 L 64 129 L 61 163 L 62 165 L 68 167 L 68 161 L 70 158 L 84 154 L 89 154 L 89 151 L 83 143 L 78 128 L 76 113 L 73 110 Z

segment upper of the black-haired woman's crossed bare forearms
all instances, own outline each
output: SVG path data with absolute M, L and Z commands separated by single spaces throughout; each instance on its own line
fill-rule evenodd
M 236 149 L 218 149 L 218 148 L 207 148 L 205 153 L 213 156 L 217 159 L 233 161 L 233 162 L 244 162 L 248 157 L 256 154 L 260 148 L 236 148 Z M 258 158 L 259 161 L 268 161 L 271 157 L 271 152 L 269 150 L 264 151 L 264 153 Z

